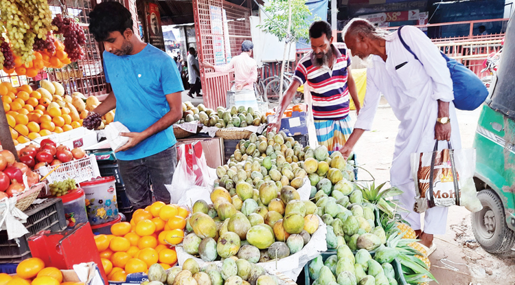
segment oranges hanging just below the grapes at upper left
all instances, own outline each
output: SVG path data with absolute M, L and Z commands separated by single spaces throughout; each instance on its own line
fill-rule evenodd
M 54 42 L 54 46 L 56 47 L 56 50 L 53 54 L 50 54 L 46 49 L 44 52 L 34 52 L 36 58 L 31 62 L 23 63 L 21 62 L 21 58 L 14 56 L 14 68 L 6 69 L 4 67 L 3 71 L 8 74 L 16 72 L 16 75 L 18 76 L 33 78 L 36 77 L 39 72 L 43 71 L 43 67 L 60 69 L 65 65 L 70 64 L 71 60 L 68 58 L 68 54 L 64 50 L 65 45 L 56 40 Z

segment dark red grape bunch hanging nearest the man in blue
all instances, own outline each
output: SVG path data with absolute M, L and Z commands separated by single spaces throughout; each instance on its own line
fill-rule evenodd
M 57 14 L 52 25 L 57 27 L 56 34 L 62 34 L 65 37 L 65 52 L 71 61 L 77 61 L 82 59 L 84 52 L 82 47 L 86 43 L 86 36 L 84 36 L 84 30 L 78 25 L 73 19 L 62 18 L 61 14 Z

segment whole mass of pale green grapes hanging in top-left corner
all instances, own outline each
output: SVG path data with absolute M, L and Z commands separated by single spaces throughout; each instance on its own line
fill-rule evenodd
M 0 0 L 0 11 L 12 52 L 23 63 L 34 60 L 35 39 L 44 41 L 54 30 L 47 0 Z

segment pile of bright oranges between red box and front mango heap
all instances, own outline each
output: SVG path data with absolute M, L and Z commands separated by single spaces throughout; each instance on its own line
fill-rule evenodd
M 111 235 L 95 236 L 108 280 L 125 281 L 130 273 L 147 272 L 159 263 L 169 269 L 177 262 L 174 245 L 184 238 L 190 213 L 179 205 L 156 202 L 137 209 L 130 223 L 117 223 Z

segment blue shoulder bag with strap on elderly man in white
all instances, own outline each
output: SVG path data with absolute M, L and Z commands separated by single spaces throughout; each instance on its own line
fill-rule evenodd
M 404 42 L 402 36 L 400 35 L 400 29 L 404 27 L 401 26 L 397 30 L 397 34 L 399 35 L 400 42 L 404 47 L 415 56 L 415 59 L 420 62 L 415 53 L 411 50 L 409 45 Z M 454 106 L 457 109 L 472 111 L 477 109 L 477 107 L 481 106 L 483 102 L 485 102 L 488 97 L 488 89 L 486 89 L 485 84 L 476 76 L 472 70 L 468 69 L 461 63 L 457 62 L 453 58 L 448 58 L 443 52 L 442 56 L 447 61 L 447 67 L 450 72 L 450 79 L 453 80 L 453 92 L 454 92 Z M 420 62 L 422 64 L 422 62 Z M 423 65 L 423 64 L 422 64 Z

